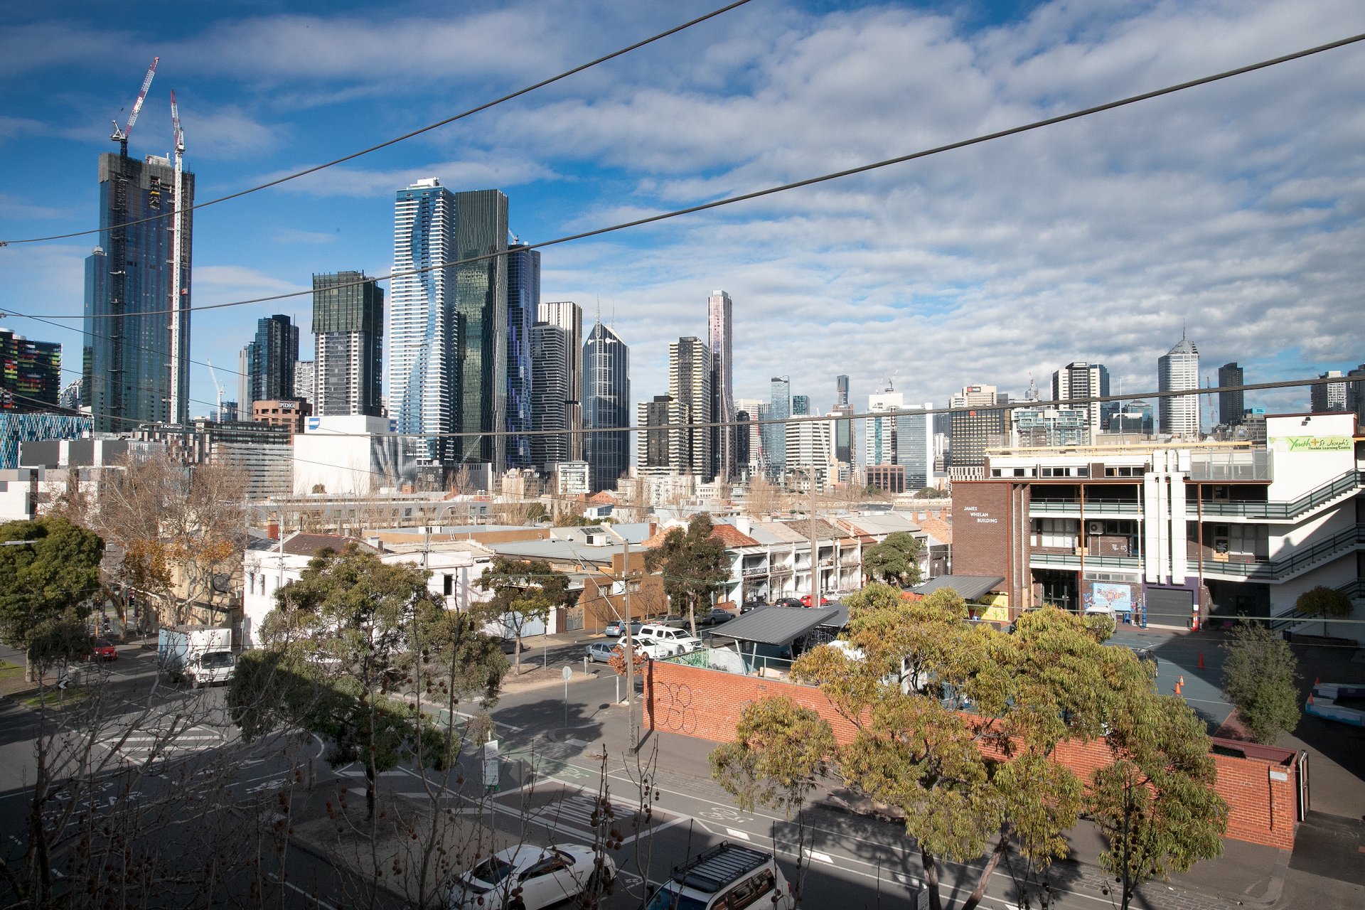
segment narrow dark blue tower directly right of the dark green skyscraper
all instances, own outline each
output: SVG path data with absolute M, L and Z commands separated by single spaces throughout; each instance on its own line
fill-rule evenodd
M 535 446 L 530 431 L 535 428 L 535 323 L 541 306 L 541 251 L 526 244 L 508 248 L 508 337 L 506 337 L 506 398 L 504 419 L 506 467 L 528 468 L 535 464 Z M 562 345 L 561 345 L 562 348 Z M 561 351 L 560 363 L 566 357 Z M 564 382 L 561 377 L 561 383 Z M 562 392 L 562 387 L 561 387 Z M 572 397 L 573 393 L 571 393 Z M 565 453 L 566 454 L 566 453 Z M 557 458 L 564 461 L 564 458 Z M 543 467 L 536 465 L 536 467 Z M 553 469 L 553 464 L 545 468 Z

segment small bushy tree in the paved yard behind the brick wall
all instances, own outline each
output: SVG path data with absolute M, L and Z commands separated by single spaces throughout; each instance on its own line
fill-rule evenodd
M 1239 622 L 1223 649 L 1223 694 L 1256 742 L 1274 745 L 1298 726 L 1298 658 L 1259 622 Z

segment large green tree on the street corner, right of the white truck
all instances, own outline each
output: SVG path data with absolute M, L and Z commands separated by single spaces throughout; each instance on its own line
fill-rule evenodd
M 459 757 L 453 724 L 438 726 L 420 700 L 450 712 L 465 693 L 490 703 L 506 669 L 497 640 L 446 611 L 426 580 L 355 544 L 324 551 L 280 588 L 261 623 L 265 647 L 242 655 L 228 689 L 247 742 L 303 729 L 328 744 L 333 767 L 359 763 L 370 817 L 384 771 Z

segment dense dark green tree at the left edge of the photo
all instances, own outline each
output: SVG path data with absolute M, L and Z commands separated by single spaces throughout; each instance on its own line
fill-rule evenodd
M 0 640 L 41 678 L 90 648 L 78 606 L 100 592 L 104 540 L 55 516 L 0 525 Z

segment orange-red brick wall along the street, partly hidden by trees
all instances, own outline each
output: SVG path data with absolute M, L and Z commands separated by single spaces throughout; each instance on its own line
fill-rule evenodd
M 744 707 L 768 696 L 786 696 L 818 712 L 830 722 L 839 742 L 849 742 L 856 734 L 853 724 L 812 686 L 658 660 L 651 660 L 644 673 L 644 719 L 650 730 L 713 742 L 733 739 Z M 1057 757 L 1085 778 L 1108 761 L 1108 749 L 1102 742 L 1063 742 Z M 1298 787 L 1293 761 L 1226 754 L 1215 754 L 1213 761 L 1218 765 L 1215 789 L 1228 805 L 1226 836 L 1293 850 Z M 1271 772 L 1287 779 L 1272 780 Z

